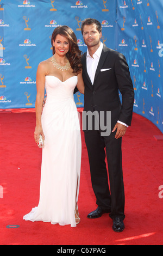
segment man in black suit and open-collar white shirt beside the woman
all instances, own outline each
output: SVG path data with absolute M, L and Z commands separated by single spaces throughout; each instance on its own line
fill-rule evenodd
M 124 184 L 122 173 L 122 137 L 131 125 L 134 103 L 134 89 L 126 58 L 104 46 L 101 42 L 102 26 L 95 19 L 82 23 L 82 34 L 87 52 L 83 55 L 83 80 L 85 84 L 84 113 L 104 113 L 107 127 L 107 113 L 111 112 L 111 133 L 99 129 L 85 129 L 85 143 L 89 155 L 91 181 L 97 199 L 97 209 L 87 217 L 98 218 L 108 212 L 113 220 L 112 228 L 124 229 Z M 119 97 L 122 94 L 122 103 Z M 96 123 L 96 115 L 94 124 Z M 102 120 L 102 119 L 101 119 Z M 105 154 L 106 152 L 106 154 Z M 105 155 L 108 162 L 106 170 Z

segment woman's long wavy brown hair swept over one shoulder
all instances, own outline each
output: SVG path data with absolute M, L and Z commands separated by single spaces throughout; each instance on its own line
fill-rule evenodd
M 53 46 L 53 40 L 57 35 L 65 36 L 70 42 L 70 50 L 67 52 L 66 57 L 70 62 L 71 68 L 73 69 L 73 73 L 78 74 L 82 70 L 82 62 L 81 56 L 82 51 L 79 50 L 79 46 L 77 44 L 77 37 L 74 34 L 73 30 L 68 26 L 59 26 L 54 29 L 52 34 L 52 47 L 53 47 L 53 55 L 55 54 L 55 47 Z

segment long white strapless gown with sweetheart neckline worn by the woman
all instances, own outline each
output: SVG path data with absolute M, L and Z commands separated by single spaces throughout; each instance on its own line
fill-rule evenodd
M 46 76 L 47 101 L 42 112 L 45 147 L 39 205 L 23 217 L 76 227 L 74 211 L 78 201 L 82 144 L 73 90 L 78 77 L 65 82 Z

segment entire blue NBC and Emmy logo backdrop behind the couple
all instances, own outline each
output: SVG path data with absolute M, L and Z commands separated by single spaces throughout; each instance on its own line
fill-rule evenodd
M 81 24 L 92 17 L 101 22 L 103 44 L 126 56 L 134 112 L 163 132 L 162 14 L 162 0 L 0 0 L 0 108 L 34 108 L 37 66 L 52 56 L 54 29 L 70 26 L 84 53 Z M 84 106 L 79 92 L 74 100 Z

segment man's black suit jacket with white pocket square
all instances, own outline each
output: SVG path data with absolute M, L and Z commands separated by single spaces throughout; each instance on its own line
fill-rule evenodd
M 86 53 L 82 57 L 82 63 L 85 84 L 84 111 L 111 111 L 111 129 L 118 120 L 131 125 L 134 89 L 123 54 L 103 46 L 93 84 L 87 74 Z M 122 104 L 119 90 L 122 94 Z

